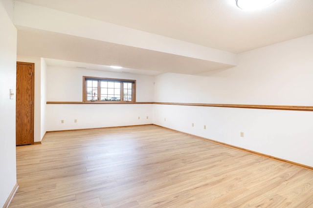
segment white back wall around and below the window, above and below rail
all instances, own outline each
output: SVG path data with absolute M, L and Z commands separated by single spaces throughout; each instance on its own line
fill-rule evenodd
M 136 102 L 153 102 L 153 76 L 57 66 L 47 66 L 46 100 L 82 102 L 83 76 L 136 80 Z M 152 124 L 152 112 L 152 104 L 47 104 L 45 123 L 47 131 L 143 125 Z

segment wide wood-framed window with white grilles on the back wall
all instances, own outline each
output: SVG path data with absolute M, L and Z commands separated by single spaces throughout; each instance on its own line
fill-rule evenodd
M 134 103 L 135 80 L 83 77 L 83 102 Z

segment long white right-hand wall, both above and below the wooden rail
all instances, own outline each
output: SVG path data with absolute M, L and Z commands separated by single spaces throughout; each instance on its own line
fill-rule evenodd
M 310 35 L 239 54 L 238 66 L 207 77 L 162 74 L 155 79 L 155 102 L 313 105 L 312 55 Z M 308 166 L 312 120 L 307 111 L 154 105 L 156 125 Z

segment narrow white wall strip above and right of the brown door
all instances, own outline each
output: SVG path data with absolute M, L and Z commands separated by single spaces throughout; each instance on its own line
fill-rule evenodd
M 42 140 L 41 136 L 41 97 L 42 97 L 42 70 L 41 70 L 41 58 L 39 57 L 30 57 L 30 56 L 17 56 L 18 62 L 29 62 L 29 63 L 35 63 L 35 98 L 34 98 L 34 142 L 40 142 Z M 45 65 L 45 64 L 43 64 Z

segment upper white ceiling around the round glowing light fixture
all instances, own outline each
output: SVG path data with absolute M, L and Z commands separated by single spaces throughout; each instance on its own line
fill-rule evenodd
M 19 1 L 232 53 L 241 53 L 313 34 L 313 0 L 276 0 L 266 9 L 257 11 L 241 10 L 235 6 L 235 0 Z M 159 58 L 162 60 L 162 55 L 159 54 Z M 166 56 L 166 59 L 177 58 Z M 168 62 L 147 68 L 147 64 L 142 65 L 138 60 L 135 61 L 137 63 L 129 64 L 130 68 L 171 71 L 171 65 L 165 67 Z M 177 59 L 175 62 L 177 61 L 181 60 Z M 80 62 L 85 61 L 80 60 Z M 188 62 L 201 61 L 184 59 L 181 64 L 173 64 L 172 67 L 178 69 Z M 226 67 L 223 64 L 217 66 L 213 63 L 209 68 L 203 63 L 204 61 L 201 62 L 203 68 L 197 73 L 206 69 Z M 156 62 L 151 62 L 152 64 Z M 212 62 L 209 64 L 211 66 Z M 159 70 L 161 68 L 162 70 Z M 173 72 L 179 73 L 177 70 Z

